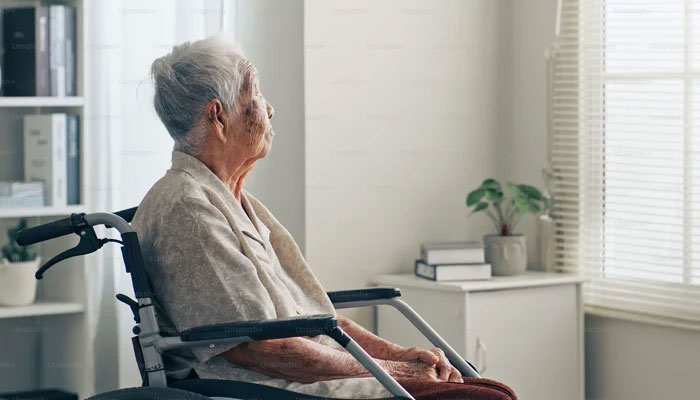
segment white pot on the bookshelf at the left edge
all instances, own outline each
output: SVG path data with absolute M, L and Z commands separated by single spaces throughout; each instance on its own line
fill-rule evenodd
M 11 263 L 0 260 L 0 306 L 27 306 L 36 298 L 36 278 L 41 259 Z

